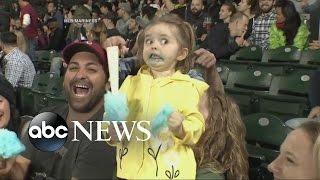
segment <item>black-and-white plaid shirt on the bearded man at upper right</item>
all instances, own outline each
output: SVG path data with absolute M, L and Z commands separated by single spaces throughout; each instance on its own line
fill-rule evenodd
M 252 25 L 252 33 L 249 40 L 255 45 L 261 46 L 263 49 L 269 47 L 269 29 L 276 20 L 276 13 L 271 10 L 267 14 L 261 14 L 254 18 Z

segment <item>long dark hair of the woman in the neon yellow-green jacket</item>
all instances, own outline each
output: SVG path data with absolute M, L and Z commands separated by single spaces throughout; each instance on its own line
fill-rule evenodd
M 289 0 L 278 0 L 275 4 L 275 8 L 281 8 L 282 14 L 286 18 L 283 30 L 287 44 L 292 45 L 301 25 L 300 15 L 293 2 Z

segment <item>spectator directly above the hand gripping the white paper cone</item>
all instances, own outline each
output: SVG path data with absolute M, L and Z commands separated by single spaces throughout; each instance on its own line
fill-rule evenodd
M 124 37 L 128 36 L 129 32 L 129 19 L 130 19 L 130 13 L 131 13 L 131 6 L 130 3 L 119 3 L 118 5 L 119 9 L 117 11 L 118 17 L 120 18 L 117 21 L 116 28 L 120 32 L 121 35 Z

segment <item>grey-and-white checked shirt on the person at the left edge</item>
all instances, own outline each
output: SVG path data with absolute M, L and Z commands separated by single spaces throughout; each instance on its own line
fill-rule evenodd
M 18 48 L 12 49 L 4 57 L 4 75 L 13 87 L 30 88 L 35 74 L 32 61 Z

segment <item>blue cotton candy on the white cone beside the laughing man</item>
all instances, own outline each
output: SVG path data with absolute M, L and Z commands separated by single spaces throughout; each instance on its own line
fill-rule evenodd
M 104 109 L 107 121 L 125 121 L 129 115 L 126 95 L 108 91 L 104 95 Z

